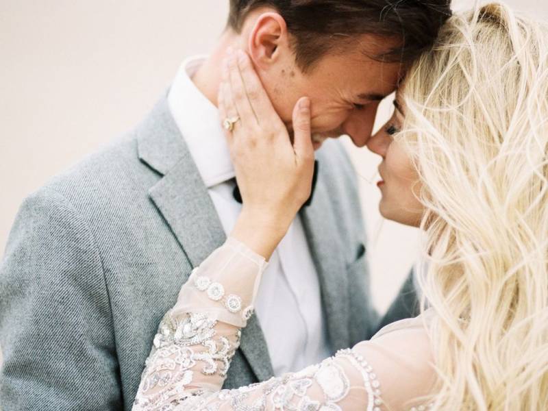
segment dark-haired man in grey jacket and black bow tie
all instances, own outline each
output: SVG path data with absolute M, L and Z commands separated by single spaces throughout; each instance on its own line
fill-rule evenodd
M 289 129 L 307 95 L 316 148 L 340 134 L 362 147 L 448 2 L 231 0 L 218 47 L 182 65 L 143 123 L 21 206 L 0 269 L 3 410 L 132 408 L 160 319 L 240 211 L 215 108 L 228 47 L 249 53 Z M 312 201 L 271 259 L 225 388 L 318 362 L 378 327 L 349 160 L 334 140 L 316 157 Z M 385 321 L 409 315 L 402 301 L 412 294 Z

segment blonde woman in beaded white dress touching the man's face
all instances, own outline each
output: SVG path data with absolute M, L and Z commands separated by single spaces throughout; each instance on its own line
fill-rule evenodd
M 164 316 L 134 410 L 548 410 L 547 25 L 500 3 L 453 16 L 368 142 L 380 211 L 425 234 L 423 314 L 237 390 L 221 386 L 314 152 L 308 99 L 289 137 L 245 53 L 219 98 L 239 118 L 227 138 L 242 214 Z

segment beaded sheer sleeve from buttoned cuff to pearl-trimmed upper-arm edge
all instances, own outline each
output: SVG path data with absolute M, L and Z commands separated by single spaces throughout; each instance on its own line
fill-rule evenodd
M 134 411 L 385 409 L 373 369 L 353 349 L 298 373 L 221 390 L 265 266 L 229 238 L 192 272 L 158 327 Z

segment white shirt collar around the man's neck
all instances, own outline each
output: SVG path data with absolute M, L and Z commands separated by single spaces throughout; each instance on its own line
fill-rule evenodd
M 192 82 L 206 56 L 185 60 L 168 95 L 169 110 L 208 188 L 234 178 L 234 167 L 217 108 Z

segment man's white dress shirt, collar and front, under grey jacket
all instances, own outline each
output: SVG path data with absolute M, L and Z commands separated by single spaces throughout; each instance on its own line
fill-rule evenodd
M 168 102 L 228 235 L 242 206 L 232 195 L 234 168 L 217 108 L 191 79 L 203 60 L 193 57 L 182 64 Z M 275 375 L 330 355 L 319 280 L 299 216 L 271 257 L 255 308 Z

